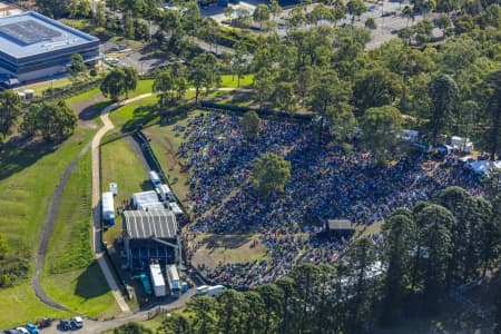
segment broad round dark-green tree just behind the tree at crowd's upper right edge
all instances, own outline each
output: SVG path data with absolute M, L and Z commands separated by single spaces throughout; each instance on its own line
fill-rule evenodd
M 401 94 L 400 77 L 385 68 L 377 67 L 355 78 L 353 102 L 357 108 L 365 110 L 371 107 L 391 105 Z

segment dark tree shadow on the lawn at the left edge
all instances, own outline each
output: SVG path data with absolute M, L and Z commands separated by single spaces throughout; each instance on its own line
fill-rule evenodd
M 21 171 L 37 163 L 45 155 L 55 151 L 65 139 L 29 144 L 18 144 L 16 143 L 17 140 L 18 138 L 13 138 L 3 146 L 0 145 L 0 180 Z

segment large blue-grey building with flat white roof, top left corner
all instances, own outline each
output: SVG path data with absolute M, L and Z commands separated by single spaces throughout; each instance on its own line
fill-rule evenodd
M 100 59 L 99 39 L 37 12 L 0 18 L 0 82 L 48 78 L 68 71 L 71 55 Z

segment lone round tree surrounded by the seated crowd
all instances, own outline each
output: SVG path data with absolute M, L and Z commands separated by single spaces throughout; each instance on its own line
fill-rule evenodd
M 274 193 L 283 193 L 285 184 L 291 178 L 291 161 L 268 153 L 254 159 L 250 179 L 254 188 L 264 198 Z

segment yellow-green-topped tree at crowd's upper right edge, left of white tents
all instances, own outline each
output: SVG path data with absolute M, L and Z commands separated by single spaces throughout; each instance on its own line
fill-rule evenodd
M 394 153 L 401 126 L 402 115 L 395 107 L 367 109 L 361 120 L 365 146 L 380 159 L 389 158 Z

